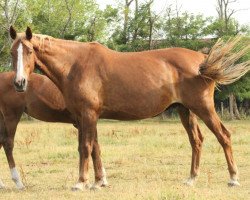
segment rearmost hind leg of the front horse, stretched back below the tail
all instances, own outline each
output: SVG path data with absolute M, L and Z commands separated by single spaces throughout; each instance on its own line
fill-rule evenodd
M 214 107 L 202 106 L 193 110 L 207 125 L 207 127 L 214 133 L 217 140 L 223 147 L 225 157 L 227 160 L 228 170 L 230 173 L 229 186 L 240 185 L 238 182 L 238 170 L 233 158 L 232 144 L 229 131 L 221 123 Z

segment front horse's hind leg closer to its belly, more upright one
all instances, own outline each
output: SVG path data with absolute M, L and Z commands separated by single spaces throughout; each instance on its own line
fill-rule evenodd
M 180 115 L 181 122 L 188 133 L 189 141 L 192 147 L 190 178 L 185 182 L 185 184 L 193 185 L 195 178 L 198 176 L 199 173 L 203 136 L 201 134 L 197 118 L 194 113 L 192 113 L 183 105 L 178 106 L 178 113 Z

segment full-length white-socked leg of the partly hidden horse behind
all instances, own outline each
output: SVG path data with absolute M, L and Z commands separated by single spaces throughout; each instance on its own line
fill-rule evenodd
M 18 117 L 17 117 L 17 114 L 13 116 L 5 116 L 4 121 L 5 121 L 6 131 L 7 131 L 6 132 L 7 137 L 3 143 L 3 148 L 5 151 L 7 160 L 8 160 L 12 180 L 15 182 L 16 187 L 21 190 L 21 189 L 24 189 L 25 187 L 16 169 L 16 164 L 15 164 L 15 160 L 13 157 L 14 137 L 15 137 L 16 127 L 20 120 L 20 117 L 21 117 L 21 114 Z

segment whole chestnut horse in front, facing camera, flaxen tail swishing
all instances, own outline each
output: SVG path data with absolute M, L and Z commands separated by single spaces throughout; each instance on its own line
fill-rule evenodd
M 11 54 L 16 71 L 15 87 L 25 91 L 29 74 L 41 68 L 61 90 L 66 106 L 77 120 L 80 155 L 79 179 L 74 190 L 89 181 L 90 156 L 95 171 L 94 187 L 104 185 L 97 138 L 99 118 L 135 120 L 155 116 L 173 103 L 192 146 L 187 184 L 198 175 L 203 136 L 196 115 L 222 145 L 230 173 L 229 185 L 239 185 L 229 131 L 214 108 L 216 83 L 228 84 L 249 70 L 249 62 L 234 66 L 247 48 L 231 54 L 239 39 L 219 41 L 208 56 L 184 48 L 121 53 L 96 43 L 81 43 L 32 34 L 10 28 Z

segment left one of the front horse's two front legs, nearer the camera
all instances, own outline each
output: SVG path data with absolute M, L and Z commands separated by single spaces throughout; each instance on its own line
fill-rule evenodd
M 91 155 L 93 155 L 92 152 L 97 134 L 97 119 L 97 113 L 94 110 L 87 109 L 85 109 L 82 116 L 79 117 L 79 179 L 77 184 L 72 187 L 72 190 L 84 190 L 85 188 L 90 188 L 88 176 L 89 160 Z

